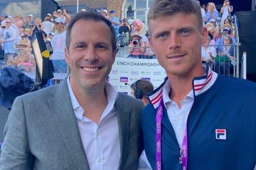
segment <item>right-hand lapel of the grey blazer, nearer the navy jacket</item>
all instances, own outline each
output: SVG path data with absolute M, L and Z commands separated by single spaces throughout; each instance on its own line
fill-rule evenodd
M 120 160 L 119 169 L 122 169 L 127 157 L 128 141 L 129 141 L 129 112 L 123 105 L 122 95 L 118 93 L 118 98 L 115 102 L 117 121 L 119 127 L 120 140 Z

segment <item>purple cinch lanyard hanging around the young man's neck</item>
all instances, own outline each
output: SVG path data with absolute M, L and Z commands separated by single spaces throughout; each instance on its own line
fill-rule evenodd
M 156 169 L 161 170 L 162 156 L 161 156 L 161 121 L 163 117 L 163 98 L 157 109 L 156 114 Z M 179 163 L 182 164 L 182 170 L 187 170 L 188 162 L 188 137 L 187 137 L 187 123 L 184 133 L 184 138 L 180 150 Z

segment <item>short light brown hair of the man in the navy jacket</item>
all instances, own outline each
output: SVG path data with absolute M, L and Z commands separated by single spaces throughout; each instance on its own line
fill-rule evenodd
M 147 23 L 162 16 L 171 16 L 176 13 L 195 14 L 199 28 L 203 27 L 201 7 L 195 0 L 155 0 L 147 14 Z

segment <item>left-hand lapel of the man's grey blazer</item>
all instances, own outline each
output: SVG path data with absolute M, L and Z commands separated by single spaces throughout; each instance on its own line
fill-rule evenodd
M 73 159 L 77 169 L 90 170 L 71 104 L 66 79 L 57 85 L 51 91 L 51 94 L 53 97 L 49 98 L 48 102 L 54 117 L 53 121 L 55 121 L 59 129 L 71 159 Z

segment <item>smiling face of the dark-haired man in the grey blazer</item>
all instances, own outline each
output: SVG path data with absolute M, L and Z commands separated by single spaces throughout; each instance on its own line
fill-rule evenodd
M 103 21 L 78 20 L 70 37 L 65 57 L 71 69 L 71 87 L 80 90 L 104 87 L 116 55 L 110 28 Z

